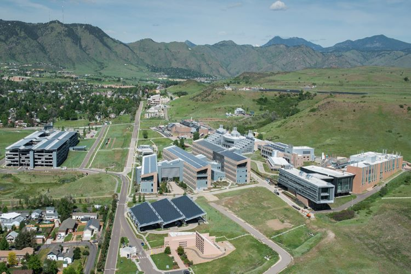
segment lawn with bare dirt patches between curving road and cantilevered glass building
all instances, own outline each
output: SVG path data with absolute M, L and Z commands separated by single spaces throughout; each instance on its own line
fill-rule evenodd
M 216 196 L 220 199 L 216 203 L 228 208 L 267 237 L 306 221 L 296 210 L 263 187 L 230 191 Z

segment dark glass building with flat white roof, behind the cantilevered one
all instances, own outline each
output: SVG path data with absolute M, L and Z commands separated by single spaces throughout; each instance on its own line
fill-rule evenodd
M 334 168 L 323 168 L 321 166 L 302 166 L 300 170 L 333 184 L 335 187 L 334 196 L 348 194 L 353 191 L 353 180 L 355 176 L 353 173 Z

